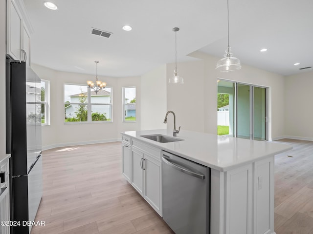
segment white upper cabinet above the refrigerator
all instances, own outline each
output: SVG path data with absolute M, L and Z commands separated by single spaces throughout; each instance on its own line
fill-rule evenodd
M 22 0 L 7 0 L 6 54 L 30 66 L 30 21 Z

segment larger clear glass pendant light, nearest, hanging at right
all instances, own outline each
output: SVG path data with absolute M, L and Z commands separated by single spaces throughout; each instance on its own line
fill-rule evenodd
M 220 59 L 216 64 L 216 70 L 221 72 L 230 72 L 241 69 L 240 60 L 232 57 L 232 53 L 229 47 L 229 9 L 228 9 L 228 0 L 227 0 L 227 39 L 228 46 L 225 50 L 224 58 Z

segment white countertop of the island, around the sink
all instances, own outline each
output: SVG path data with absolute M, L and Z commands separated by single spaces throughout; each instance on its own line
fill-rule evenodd
M 159 143 L 140 136 L 161 134 L 173 137 L 173 130 L 128 131 L 122 134 L 135 137 L 167 152 L 223 172 L 292 149 L 290 145 L 276 142 L 247 140 L 185 130 L 181 130 L 176 137 L 183 139 L 182 141 L 168 143 Z

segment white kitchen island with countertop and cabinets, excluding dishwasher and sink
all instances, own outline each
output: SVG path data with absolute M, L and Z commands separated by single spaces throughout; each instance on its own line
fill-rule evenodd
M 211 168 L 211 234 L 275 234 L 274 156 L 290 146 L 266 141 L 170 130 L 122 133 L 123 175 L 162 216 L 161 157 L 166 151 Z M 153 186 L 152 186 L 153 184 Z

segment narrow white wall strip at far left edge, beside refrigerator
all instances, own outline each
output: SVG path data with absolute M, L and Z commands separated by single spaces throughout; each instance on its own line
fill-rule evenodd
M 0 157 L 6 154 L 5 124 L 5 22 L 6 4 L 0 2 Z

